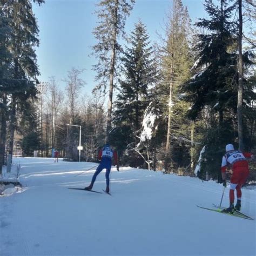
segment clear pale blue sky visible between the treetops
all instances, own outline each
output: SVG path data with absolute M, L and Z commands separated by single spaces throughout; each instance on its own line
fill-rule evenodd
M 95 44 L 92 30 L 97 17 L 93 15 L 96 0 L 45 0 L 45 4 L 34 5 L 39 25 L 40 46 L 37 49 L 38 65 L 41 76 L 47 82 L 55 76 L 64 90 L 67 71 L 72 67 L 86 69 L 83 79 L 86 85 L 83 93 L 90 95 L 96 85 L 95 72 L 91 66 L 95 58 L 89 57 L 91 46 Z M 183 0 L 192 22 L 206 17 L 204 0 Z M 172 5 L 172 0 L 136 0 L 132 14 L 126 21 L 126 32 L 133 30 L 138 19 L 146 25 L 151 41 L 157 41 L 157 33 L 163 33 L 164 18 Z

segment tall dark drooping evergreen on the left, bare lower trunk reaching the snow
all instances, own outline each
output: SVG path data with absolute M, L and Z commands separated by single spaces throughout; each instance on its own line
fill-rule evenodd
M 38 4 L 43 0 L 34 0 Z M 8 38 L 11 57 L 10 80 L 8 91 L 10 94 L 10 122 L 9 122 L 9 154 L 12 155 L 14 132 L 17 127 L 16 113 L 22 110 L 24 100 L 35 97 L 35 76 L 39 74 L 35 46 L 38 45 L 38 27 L 32 12 L 32 1 L 2 1 L 4 15 L 9 18 L 11 35 Z

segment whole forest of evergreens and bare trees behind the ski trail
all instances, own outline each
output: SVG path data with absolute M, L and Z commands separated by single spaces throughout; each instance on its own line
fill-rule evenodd
M 146 1 L 145 1 L 146 2 Z M 41 71 L 33 6 L 44 0 L 0 0 L 0 173 L 13 157 L 98 161 L 109 143 L 119 165 L 221 182 L 225 145 L 256 153 L 256 5 L 205 0 L 192 23 L 182 0 L 170 0 L 152 40 L 143 19 L 126 30 L 136 0 L 95 1 L 90 72 L 73 68 L 65 87 Z M 78 146 L 83 150 L 79 151 Z M 250 178 L 256 180 L 255 161 Z

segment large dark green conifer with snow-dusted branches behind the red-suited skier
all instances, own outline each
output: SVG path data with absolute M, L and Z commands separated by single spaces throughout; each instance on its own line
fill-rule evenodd
M 196 75 L 184 85 L 185 98 L 191 102 L 188 115 L 193 120 L 203 118 L 207 113 L 208 122 L 202 127 L 205 161 L 201 165 L 201 176 L 207 170 L 213 178 L 220 178 L 219 159 L 225 144 L 237 139 L 237 30 L 233 23 L 235 4 L 220 0 L 220 6 L 212 0 L 205 1 L 209 19 L 197 23 L 206 33 L 199 34 L 196 51 L 199 52 L 193 65 Z M 248 54 L 244 54 L 244 65 L 251 65 Z M 245 79 L 245 78 L 244 78 Z M 245 86 L 245 102 L 250 103 L 254 93 L 252 87 Z M 245 104 L 248 105 L 248 104 Z

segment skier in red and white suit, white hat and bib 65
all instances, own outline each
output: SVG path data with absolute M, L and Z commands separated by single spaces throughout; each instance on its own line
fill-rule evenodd
M 221 174 L 223 178 L 223 186 L 226 187 L 226 167 L 232 167 L 233 174 L 230 179 L 230 207 L 226 212 L 240 211 L 241 209 L 241 186 L 245 183 L 249 175 L 249 167 L 247 159 L 252 158 L 251 153 L 245 153 L 234 150 L 232 144 L 226 145 L 226 154 L 223 156 L 221 163 Z M 237 190 L 237 204 L 234 207 L 234 190 Z

